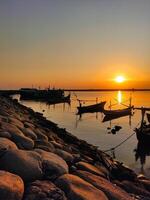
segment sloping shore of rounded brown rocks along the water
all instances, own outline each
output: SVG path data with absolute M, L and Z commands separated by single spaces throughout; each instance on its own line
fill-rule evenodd
M 150 200 L 150 180 L 0 97 L 0 200 Z

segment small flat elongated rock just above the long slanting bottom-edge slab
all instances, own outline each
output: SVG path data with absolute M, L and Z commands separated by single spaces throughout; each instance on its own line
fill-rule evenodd
M 91 165 L 89 163 L 81 161 L 81 162 L 76 163 L 76 167 L 79 170 L 91 172 L 92 174 L 102 176 L 102 177 L 106 177 L 106 172 L 103 170 L 103 168 L 101 168 L 101 169 L 100 169 L 100 167 L 97 168 L 96 166 Z

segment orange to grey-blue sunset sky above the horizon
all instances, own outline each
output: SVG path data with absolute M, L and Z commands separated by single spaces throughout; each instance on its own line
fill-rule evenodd
M 150 88 L 149 76 L 150 0 L 0 1 L 0 89 Z

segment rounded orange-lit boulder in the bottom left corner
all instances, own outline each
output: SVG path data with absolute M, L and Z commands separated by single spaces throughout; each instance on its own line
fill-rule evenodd
M 0 200 L 22 200 L 24 183 L 22 179 L 6 171 L 0 171 Z

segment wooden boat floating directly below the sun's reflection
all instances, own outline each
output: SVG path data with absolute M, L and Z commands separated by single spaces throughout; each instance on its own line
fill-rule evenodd
M 118 109 L 118 110 L 103 110 L 103 113 L 105 114 L 105 116 L 109 116 L 109 117 L 120 117 L 120 116 L 125 116 L 125 115 L 131 115 L 132 108 L 133 107 Z

